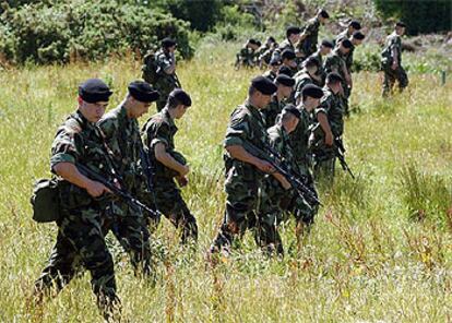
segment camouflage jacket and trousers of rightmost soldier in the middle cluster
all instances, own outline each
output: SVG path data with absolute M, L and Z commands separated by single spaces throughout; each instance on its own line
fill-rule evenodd
M 323 88 L 323 97 L 320 106 L 314 110 L 316 117 L 325 113 L 333 137 L 341 137 L 344 132 L 344 108 L 338 94 L 334 94 L 329 87 Z M 332 180 L 334 177 L 334 165 L 336 155 L 331 146 L 324 143 L 324 132 L 320 123 L 316 124 L 311 142 L 311 152 L 314 159 L 314 178 L 326 177 Z

